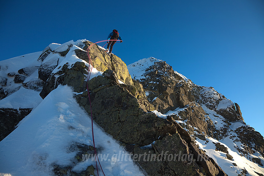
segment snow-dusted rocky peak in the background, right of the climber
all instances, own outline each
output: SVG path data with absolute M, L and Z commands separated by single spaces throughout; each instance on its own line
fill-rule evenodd
M 132 78 L 142 83 L 147 100 L 155 110 L 166 113 L 167 119 L 177 121 L 193 140 L 199 138 L 207 144 L 208 137 L 216 140 L 230 138 L 234 144 L 242 143 L 239 147 L 230 146 L 237 149 L 240 156 L 250 158 L 254 152 L 263 156 L 263 137 L 246 127 L 238 104 L 214 88 L 194 84 L 173 71 L 166 62 L 155 58 L 142 59 L 128 68 Z M 223 145 L 219 143 L 217 146 L 217 151 L 224 151 L 226 158 L 233 160 L 226 147 L 222 150 Z

